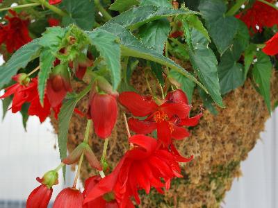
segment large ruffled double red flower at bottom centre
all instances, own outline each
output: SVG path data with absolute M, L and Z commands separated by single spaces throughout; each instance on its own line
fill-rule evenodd
M 145 189 L 146 193 L 149 193 L 154 187 L 163 193 L 162 188 L 169 189 L 173 177 L 183 177 L 177 161 L 181 156 L 166 148 L 160 149 L 156 139 L 145 135 L 134 135 L 129 138 L 129 142 L 133 144 L 133 148 L 125 153 L 110 175 L 100 180 L 86 194 L 85 204 L 112 191 L 115 200 L 122 207 L 129 205 L 132 196 L 140 204 L 139 189 Z M 162 178 L 165 183 L 161 181 Z

